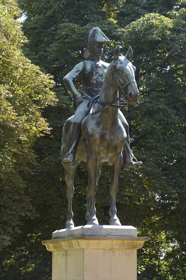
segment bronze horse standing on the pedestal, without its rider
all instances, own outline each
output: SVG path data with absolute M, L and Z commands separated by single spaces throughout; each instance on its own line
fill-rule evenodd
M 73 166 L 65 165 L 65 181 L 67 184 L 67 222 L 66 228 L 73 228 L 72 199 L 74 195 L 74 176 L 81 161 L 87 162 L 88 185 L 86 188 L 87 208 L 85 218 L 87 225 L 99 225 L 96 217 L 95 195 L 104 162 L 110 165 L 110 225 L 121 226 L 116 215 L 116 194 L 118 176 L 122 166 L 122 150 L 127 134 L 118 118 L 119 94 L 130 105 L 135 105 L 139 91 L 135 80 L 135 67 L 130 60 L 133 50 L 129 47 L 125 56 L 120 55 L 119 46 L 114 49 L 114 59 L 109 65 L 102 91 L 98 101 L 91 107 L 90 113 L 81 124 L 80 138 Z M 72 133 L 73 116 L 64 125 L 61 145 L 61 160 L 69 151 L 68 140 Z

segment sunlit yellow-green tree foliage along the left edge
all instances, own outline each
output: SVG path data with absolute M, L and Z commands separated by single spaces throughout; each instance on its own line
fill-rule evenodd
M 36 138 L 49 132 L 41 108 L 54 104 L 53 81 L 22 53 L 26 42 L 15 1 L 0 2 L 0 195 L 1 250 L 14 241 L 26 217 L 34 217 L 30 198 L 25 195 L 23 174 L 32 176 L 36 164 Z

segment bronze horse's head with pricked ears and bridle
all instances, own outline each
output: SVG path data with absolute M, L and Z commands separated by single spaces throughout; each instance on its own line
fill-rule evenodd
M 120 55 L 119 46 L 114 49 L 113 72 L 119 92 L 125 95 L 130 105 L 136 105 L 139 91 L 135 80 L 136 68 L 130 60 L 133 57 L 133 50 L 129 47 L 126 56 Z

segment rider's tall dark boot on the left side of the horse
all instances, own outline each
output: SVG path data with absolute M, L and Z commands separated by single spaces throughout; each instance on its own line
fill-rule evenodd
M 65 155 L 62 163 L 67 164 L 70 166 L 74 165 L 75 157 L 76 157 L 76 150 L 79 144 L 80 138 L 80 125 L 78 123 L 73 123 L 73 130 L 72 130 L 72 147 L 69 152 Z

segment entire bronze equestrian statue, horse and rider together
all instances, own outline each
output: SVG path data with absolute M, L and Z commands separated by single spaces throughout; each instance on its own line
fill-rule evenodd
M 116 216 L 115 197 L 123 158 L 125 169 L 139 167 L 142 164 L 141 161 L 133 161 L 134 156 L 129 146 L 128 123 L 119 110 L 121 105 L 118 107 L 119 93 L 128 100 L 129 104 L 135 104 L 139 96 L 134 77 L 135 67 L 129 61 L 132 59 L 133 51 L 129 48 L 126 57 L 123 57 L 119 56 L 119 47 L 116 47 L 114 61 L 109 65 L 100 59 L 103 44 L 108 42 L 109 39 L 98 27 L 92 29 L 84 55 L 88 56 L 88 61 L 76 65 L 64 78 L 65 85 L 73 92 L 78 105 L 75 115 L 64 125 L 61 145 L 61 160 L 65 168 L 68 198 L 66 228 L 74 227 L 72 220 L 73 181 L 76 167 L 81 161 L 87 161 L 88 166 L 86 219 L 90 225 L 98 224 L 95 194 L 102 164 L 108 162 L 112 170 L 110 225 L 120 225 Z M 82 96 L 73 83 L 79 76 L 82 77 L 84 86 Z M 99 94 L 99 101 L 94 100 L 91 114 L 87 115 L 88 103 L 92 97 Z M 83 134 L 81 138 L 80 131 Z

